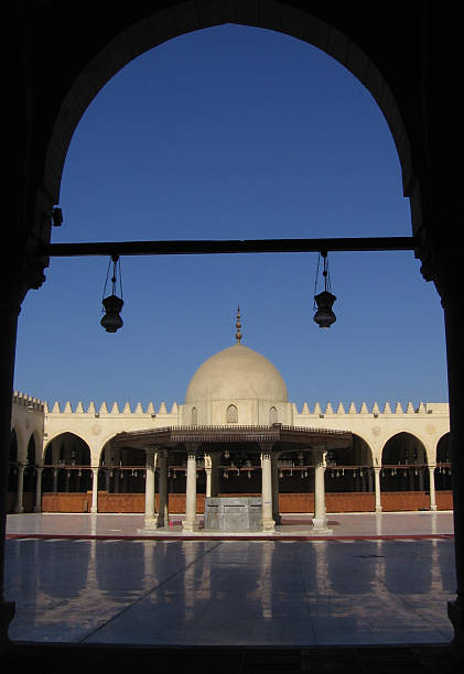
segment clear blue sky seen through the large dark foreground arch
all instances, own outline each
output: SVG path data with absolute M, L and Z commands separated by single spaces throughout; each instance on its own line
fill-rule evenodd
M 333 58 L 225 25 L 118 73 L 84 115 L 53 241 L 409 235 L 398 155 L 370 94 Z M 53 403 L 182 403 L 234 343 L 267 356 L 290 400 L 447 400 L 439 296 L 412 252 L 332 253 L 328 330 L 315 253 L 123 258 L 123 328 L 100 327 L 107 259 L 53 259 L 19 322 L 15 389 Z

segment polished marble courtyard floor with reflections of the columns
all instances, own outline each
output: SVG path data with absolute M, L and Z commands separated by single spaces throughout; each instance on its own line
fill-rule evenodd
M 7 541 L 8 598 L 17 601 L 10 637 L 274 648 L 452 638 L 450 513 L 384 514 L 380 523 L 331 515 L 346 537 L 328 541 L 125 540 L 138 517 L 9 518 L 10 533 L 74 536 Z M 354 537 L 379 536 L 379 528 L 410 537 Z M 91 530 L 120 540 L 76 537 Z

